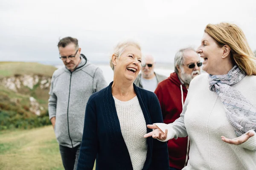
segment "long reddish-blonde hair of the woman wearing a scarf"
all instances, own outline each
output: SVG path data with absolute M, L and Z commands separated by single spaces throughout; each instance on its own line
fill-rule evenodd
M 208 24 L 204 32 L 209 34 L 218 46 L 230 46 L 231 57 L 245 74 L 256 75 L 256 57 L 241 28 L 230 23 Z

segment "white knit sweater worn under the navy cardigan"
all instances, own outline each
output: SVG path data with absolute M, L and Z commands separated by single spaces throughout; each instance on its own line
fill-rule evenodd
M 146 139 L 143 138 L 143 135 L 147 133 L 147 127 L 139 100 L 137 96 L 127 102 L 113 98 L 132 167 L 134 170 L 142 170 L 148 146 Z

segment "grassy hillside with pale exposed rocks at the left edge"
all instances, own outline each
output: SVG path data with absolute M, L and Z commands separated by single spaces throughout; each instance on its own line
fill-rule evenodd
M 0 130 L 49 125 L 49 83 L 55 70 L 35 62 L 0 62 Z M 24 82 L 34 84 L 29 88 Z M 40 116 L 32 111 L 31 97 L 38 103 Z

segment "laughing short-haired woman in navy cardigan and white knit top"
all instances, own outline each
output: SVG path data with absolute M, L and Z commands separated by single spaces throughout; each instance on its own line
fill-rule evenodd
M 113 82 L 90 96 L 77 170 L 169 170 L 166 142 L 143 138 L 147 124 L 163 122 L 157 96 L 133 84 L 142 67 L 140 45 L 114 48 Z

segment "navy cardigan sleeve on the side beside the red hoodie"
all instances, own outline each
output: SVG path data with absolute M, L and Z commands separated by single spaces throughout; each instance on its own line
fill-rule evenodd
M 151 100 L 151 120 L 152 123 L 163 122 L 163 116 L 157 96 L 154 94 Z M 169 156 L 166 142 L 153 139 L 152 164 L 156 170 L 169 170 Z

